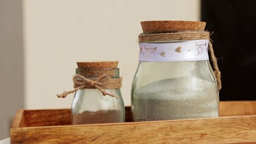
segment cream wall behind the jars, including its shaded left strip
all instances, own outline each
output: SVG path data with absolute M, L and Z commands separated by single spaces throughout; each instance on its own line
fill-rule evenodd
M 71 106 L 55 94 L 72 88 L 76 61 L 119 61 L 130 105 L 139 21 L 199 19 L 200 0 L 0 0 L 0 140 L 18 109 Z

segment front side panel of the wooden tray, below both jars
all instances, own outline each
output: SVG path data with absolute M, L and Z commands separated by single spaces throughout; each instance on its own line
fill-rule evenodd
M 11 143 L 256 142 L 256 116 L 11 129 Z

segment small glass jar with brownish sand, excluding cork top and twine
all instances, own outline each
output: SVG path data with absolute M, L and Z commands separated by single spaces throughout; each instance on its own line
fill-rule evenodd
M 120 79 L 119 68 L 91 69 L 77 68 L 76 74 L 86 79 L 98 79 L 102 74 L 110 75 L 109 79 Z M 94 88 L 79 89 L 74 94 L 71 107 L 72 124 L 115 123 L 125 122 L 125 107 L 120 88 L 104 89 L 118 98 L 103 95 Z

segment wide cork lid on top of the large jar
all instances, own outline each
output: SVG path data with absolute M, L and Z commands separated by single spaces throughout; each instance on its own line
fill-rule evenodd
M 142 21 L 143 33 L 164 31 L 204 31 L 206 22 L 201 21 Z

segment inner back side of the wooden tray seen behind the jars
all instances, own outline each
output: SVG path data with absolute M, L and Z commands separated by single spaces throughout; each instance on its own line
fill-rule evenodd
M 69 125 L 71 124 L 70 109 L 56 110 L 20 110 L 14 123 L 21 123 L 20 113 L 24 111 L 23 123 L 20 127 L 39 127 L 51 125 Z M 220 101 L 220 116 L 243 116 L 256 115 L 256 101 Z M 131 107 L 125 107 L 125 122 L 131 122 Z M 25 121 L 25 122 L 24 122 Z M 17 126 L 16 126 L 17 127 Z

